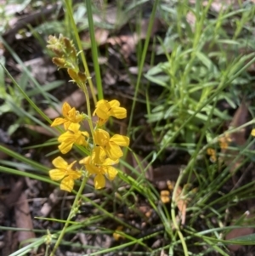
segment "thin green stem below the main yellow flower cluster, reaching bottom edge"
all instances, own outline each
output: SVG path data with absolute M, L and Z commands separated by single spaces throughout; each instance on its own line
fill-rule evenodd
M 83 189 L 84 189 L 84 187 L 85 187 L 85 185 L 86 185 L 86 182 L 87 182 L 87 179 L 84 178 L 84 179 L 82 180 L 82 184 L 81 184 L 81 186 L 80 186 L 80 189 L 79 189 L 79 191 L 77 192 L 77 196 L 76 196 L 76 198 L 75 198 L 75 201 L 73 202 L 73 204 L 72 204 L 72 206 L 71 206 L 71 211 L 70 211 L 70 213 L 69 213 L 69 215 L 68 215 L 68 218 L 67 218 L 66 221 L 65 221 L 65 226 L 64 226 L 63 230 L 61 230 L 60 235 L 59 235 L 59 238 L 58 238 L 57 242 L 55 243 L 54 248 L 53 248 L 53 250 L 52 250 L 52 252 L 50 253 L 49 256 L 54 256 L 54 255 L 55 255 L 55 252 L 56 252 L 57 248 L 59 247 L 59 244 L 60 244 L 60 242 L 62 241 L 63 236 L 65 236 L 65 230 L 67 229 L 67 227 L 68 227 L 68 225 L 69 225 L 70 219 L 73 217 L 73 210 L 77 207 L 77 202 L 78 202 L 80 196 L 82 195 L 82 191 L 83 191 Z

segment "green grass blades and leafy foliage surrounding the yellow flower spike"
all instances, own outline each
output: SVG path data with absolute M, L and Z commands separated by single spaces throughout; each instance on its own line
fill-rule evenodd
M 111 24 L 94 24 L 93 14 L 102 12 L 104 15 L 107 3 L 98 6 L 84 1 L 73 6 L 71 1 L 63 3 L 65 8 L 64 21 L 57 21 L 59 31 L 65 31 L 64 36 L 71 37 L 80 51 L 82 70 L 86 71 L 88 77 L 94 73 L 93 79 L 88 79 L 88 88 L 93 91 L 97 88 L 98 100 L 104 98 L 104 86 L 102 84 L 102 70 L 106 67 L 99 66 L 99 48 L 95 43 L 94 26 L 106 26 L 111 33 L 116 32 L 116 27 Z M 149 1 L 144 1 L 145 4 Z M 124 4 L 125 3 L 125 4 Z M 135 19 L 136 32 L 139 32 L 139 22 L 142 19 L 142 8 L 137 3 L 123 2 L 117 6 L 120 13 L 128 14 L 129 11 L 137 9 Z M 60 245 L 72 245 L 85 252 L 90 247 L 93 253 L 89 255 L 104 255 L 106 253 L 132 253 L 132 255 L 158 255 L 161 250 L 169 255 L 229 255 L 228 244 L 254 245 L 254 235 L 243 236 L 228 241 L 225 235 L 230 231 L 242 226 L 255 227 L 252 220 L 246 218 L 244 212 L 251 210 L 243 207 L 243 202 L 249 202 L 254 198 L 254 181 L 242 183 L 233 189 L 233 175 L 241 175 L 241 170 L 245 170 L 249 163 L 254 162 L 254 151 L 252 145 L 254 139 L 247 136 L 244 145 L 229 146 L 231 164 L 226 164 L 227 157 L 220 151 L 218 139 L 225 134 L 240 132 L 242 128 L 249 129 L 254 124 L 254 92 L 252 83 L 254 77 L 248 69 L 255 63 L 254 45 L 254 12 L 252 4 L 243 3 L 238 8 L 231 6 L 221 9 L 218 13 L 210 9 L 212 1 L 207 6 L 202 6 L 201 1 L 196 1 L 190 5 L 188 1 L 176 3 L 164 3 L 163 1 L 153 1 L 150 10 L 150 22 L 144 41 L 140 41 L 135 56 L 138 59 L 138 75 L 132 75 L 128 70 L 127 74 L 133 81 L 133 99 L 128 112 L 127 133 L 133 141 L 138 139 L 139 134 L 144 130 L 144 126 L 135 121 L 139 112 L 138 105 L 144 107 L 144 118 L 150 128 L 150 136 L 154 141 L 154 150 L 148 155 L 139 156 L 139 152 L 130 149 L 126 155 L 133 156 L 133 164 L 123 158 L 119 166 L 118 178 L 112 184 L 112 190 L 94 191 L 92 185 L 87 185 L 86 189 L 95 193 L 99 201 L 91 199 L 82 191 L 75 193 L 76 200 L 71 208 L 69 219 L 48 219 L 49 222 L 62 222 L 65 225 L 65 234 L 61 230 L 53 231 L 51 234 L 47 230 L 42 234 L 41 230 L 34 230 L 37 238 L 31 241 L 26 247 L 20 248 L 11 255 L 26 255 L 31 252 L 31 248 L 45 247 L 45 255 L 50 255 L 51 249 L 59 236 Z M 88 20 L 82 20 L 76 24 L 79 11 L 86 10 Z M 192 14 L 195 23 L 190 25 L 186 20 L 186 15 Z M 160 17 L 165 24 L 165 34 L 150 38 L 153 21 Z M 68 24 L 68 26 L 65 26 Z M 45 21 L 45 31 L 50 23 Z M 130 25 L 132 26 L 132 25 Z M 79 31 L 88 28 L 91 37 L 92 63 L 88 63 L 87 56 L 82 51 L 82 42 Z M 53 28 L 52 28 L 53 29 Z M 59 31 L 51 31 L 52 34 Z M 41 43 L 46 41 L 47 34 L 39 34 L 37 28 L 33 28 L 33 35 Z M 8 70 L 4 67 L 6 77 L 13 82 L 13 87 L 9 87 L 8 92 L 2 89 L 4 105 L 1 106 L 1 114 L 9 111 L 20 111 L 20 119 L 13 124 L 9 134 L 13 134 L 15 129 L 21 124 L 37 124 L 48 129 L 50 120 L 45 116 L 40 106 L 36 104 L 35 96 L 42 94 L 44 103 L 54 106 L 58 100 L 50 94 L 50 91 L 60 85 L 55 82 L 48 85 L 39 84 L 32 76 L 20 57 L 5 41 L 5 48 L 12 55 L 14 60 L 24 67 L 20 81 L 15 81 Z M 150 47 L 153 51 L 150 53 Z M 47 53 L 46 48 L 44 48 Z M 156 62 L 156 57 L 163 54 L 164 58 Z M 89 65 L 88 65 L 89 64 Z M 144 66 L 150 65 L 149 71 L 144 72 Z M 127 63 L 123 63 L 128 69 Z M 253 71 L 254 72 L 254 71 Z M 27 80 L 30 79 L 35 88 L 32 93 L 27 88 Z M 143 82 L 145 80 L 145 82 Z M 0 88 L 5 88 L 3 79 Z M 158 88 L 161 94 L 152 95 L 153 88 Z M 221 102 L 226 102 L 229 108 L 236 109 L 241 105 L 242 100 L 251 102 L 247 105 L 251 119 L 247 119 L 241 126 L 226 130 L 224 124 L 232 120 L 229 110 L 220 110 Z M 96 96 L 93 95 L 94 105 Z M 24 106 L 29 105 L 29 111 L 24 111 Z M 87 102 L 87 104 L 89 104 Z M 146 112 L 145 112 L 146 111 Z M 54 134 L 56 136 L 56 134 Z M 44 146 L 52 145 L 52 140 L 45 141 Z M 131 145 L 132 146 L 132 145 Z M 155 163 L 164 163 L 167 158 L 167 149 L 182 151 L 185 157 L 174 159 L 180 164 L 180 174 L 175 181 L 172 191 L 172 201 L 162 204 L 160 192 L 146 179 L 147 172 Z M 211 162 L 207 156 L 207 148 L 217 151 L 220 160 Z M 55 150 L 57 147 L 55 147 Z M 18 164 L 4 161 L 0 166 L 0 171 L 7 174 L 22 175 L 31 179 L 41 180 L 51 185 L 59 186 L 59 183 L 52 181 L 48 177 L 48 170 L 40 162 L 35 162 L 14 151 L 7 150 L 0 145 L 0 151 L 25 164 L 26 172 L 20 172 Z M 51 151 L 48 152 L 50 154 Z M 84 152 L 77 149 L 72 156 L 79 158 Z M 236 166 L 235 166 L 236 163 Z M 234 166 L 234 168 L 233 168 Z M 237 168 L 236 168 L 237 167 Z M 32 168 L 32 171 L 31 171 Z M 127 174 L 130 173 L 129 175 Z M 230 172 L 231 170 L 231 172 Z M 239 177 L 239 176 L 238 176 Z M 173 180 L 172 180 L 173 181 Z M 82 181 L 85 183 L 85 180 Z M 77 182 L 77 188 L 81 182 Z M 182 188 L 181 198 L 187 202 L 186 220 L 184 225 L 180 225 L 176 198 L 178 189 Z M 232 190 L 233 189 L 233 190 Z M 87 203 L 94 208 L 94 214 L 88 216 L 82 222 L 72 221 L 71 217 L 78 214 L 77 202 Z M 139 203 L 143 202 L 148 206 L 153 214 L 156 214 L 156 223 L 151 223 L 150 218 L 146 218 L 139 211 Z M 146 233 L 140 232 L 140 227 L 131 225 L 129 221 L 122 217 L 119 208 L 126 208 L 128 213 L 136 216 L 137 222 L 145 223 Z M 241 208 L 241 213 L 239 209 Z M 82 212 L 82 207 L 79 209 Z M 237 217 L 228 216 L 228 212 L 238 213 Z M 40 219 L 40 216 L 38 216 Z M 233 220 L 233 221 L 232 221 Z M 107 225 L 112 222 L 114 225 Z M 136 222 L 136 223 L 137 223 Z M 116 227 L 122 225 L 119 233 L 123 239 L 114 243 L 110 248 L 88 246 L 80 243 L 72 243 L 65 239 L 66 234 L 76 234 L 82 230 L 86 235 L 93 236 L 110 235 L 115 232 Z M 96 227 L 93 231 L 91 227 Z M 3 229 L 3 227 L 0 227 Z M 6 227 L 5 229 L 8 230 Z M 9 230 L 11 228 L 9 227 Z M 161 238 L 159 247 L 152 247 L 151 241 L 156 242 Z M 47 240 L 46 240 L 47 239 Z M 199 254 L 195 253 L 199 252 Z M 87 255 L 87 254 L 84 254 Z M 210 254 L 211 255 L 211 254 Z

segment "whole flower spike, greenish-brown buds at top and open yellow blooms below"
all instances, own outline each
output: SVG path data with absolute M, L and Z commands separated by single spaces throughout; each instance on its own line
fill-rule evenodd
M 50 48 L 57 57 L 53 58 L 55 65 L 59 68 L 66 68 L 73 82 L 76 82 L 79 88 L 82 88 L 85 96 L 88 95 L 86 88 L 87 77 L 79 71 L 77 51 L 73 43 L 66 37 L 49 37 L 48 48 Z M 87 98 L 87 100 L 89 100 Z M 89 105 L 89 104 L 88 104 Z M 59 151 L 66 154 L 71 151 L 73 145 L 79 145 L 86 148 L 88 156 L 79 161 L 88 172 L 94 175 L 95 189 L 105 187 L 105 177 L 113 180 L 116 177 L 117 170 L 112 166 L 119 162 L 123 156 L 122 146 L 129 145 L 127 136 L 114 134 L 112 137 L 105 131 L 104 125 L 110 117 L 122 119 L 127 117 L 127 110 L 120 106 L 118 100 L 99 100 L 95 106 L 93 116 L 98 117 L 98 121 L 93 126 L 90 110 L 88 115 L 80 113 L 67 102 L 62 107 L 63 117 L 58 117 L 52 122 L 51 126 L 63 125 L 65 133 L 58 138 L 60 143 Z M 90 127 L 88 131 L 82 131 L 81 122 L 87 120 Z M 68 164 L 58 156 L 53 160 L 54 169 L 49 171 L 49 176 L 53 180 L 61 180 L 60 189 L 71 191 L 74 186 L 74 180 L 82 177 L 82 171 L 73 170 L 73 165 Z

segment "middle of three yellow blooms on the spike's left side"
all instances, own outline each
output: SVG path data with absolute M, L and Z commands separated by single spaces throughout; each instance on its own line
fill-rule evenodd
M 65 134 L 59 136 L 58 141 L 61 143 L 59 145 L 59 151 L 61 151 L 62 154 L 71 151 L 71 147 L 74 143 L 77 145 L 88 145 L 86 141 L 89 137 L 88 132 L 81 132 L 79 128 L 80 124 L 72 122 Z

